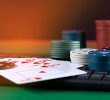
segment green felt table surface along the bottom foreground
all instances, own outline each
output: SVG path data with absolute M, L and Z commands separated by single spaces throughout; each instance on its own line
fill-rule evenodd
M 0 100 L 106 100 L 110 92 L 0 86 Z

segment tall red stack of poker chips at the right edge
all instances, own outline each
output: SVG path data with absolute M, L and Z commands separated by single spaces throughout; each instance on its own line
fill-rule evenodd
M 110 20 L 96 20 L 95 24 L 97 48 L 110 46 Z

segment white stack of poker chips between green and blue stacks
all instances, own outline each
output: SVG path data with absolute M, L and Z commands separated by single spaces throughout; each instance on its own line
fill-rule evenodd
M 96 49 L 83 48 L 70 51 L 70 59 L 72 63 L 88 65 L 88 53 Z

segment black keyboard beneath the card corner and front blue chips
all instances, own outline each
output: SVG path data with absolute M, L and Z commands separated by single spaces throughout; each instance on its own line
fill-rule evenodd
M 110 72 L 89 71 L 87 66 L 79 68 L 87 74 L 57 80 L 68 89 L 106 89 L 110 90 Z

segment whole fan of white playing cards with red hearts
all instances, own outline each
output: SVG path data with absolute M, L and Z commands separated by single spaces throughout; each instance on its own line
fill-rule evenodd
M 2 61 L 15 62 L 16 67 L 1 70 L 0 74 L 16 84 L 25 84 L 51 80 L 56 78 L 86 74 L 76 69 L 82 65 L 74 65 L 69 61 L 58 61 L 49 58 L 6 58 Z

